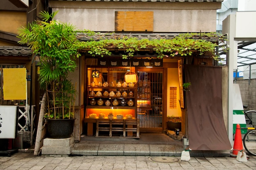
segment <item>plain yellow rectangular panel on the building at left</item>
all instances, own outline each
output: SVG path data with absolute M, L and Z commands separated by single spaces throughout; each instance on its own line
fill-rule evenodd
M 26 68 L 3 69 L 4 100 L 26 100 Z

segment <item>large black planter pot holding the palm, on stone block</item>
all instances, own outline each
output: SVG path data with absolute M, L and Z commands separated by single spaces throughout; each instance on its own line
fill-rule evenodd
M 51 138 L 69 138 L 74 130 L 75 119 L 47 119 L 47 132 Z

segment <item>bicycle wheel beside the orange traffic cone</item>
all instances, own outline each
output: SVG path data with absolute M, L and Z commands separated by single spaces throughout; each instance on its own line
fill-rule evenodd
M 245 150 L 256 156 L 256 130 L 248 131 L 243 139 Z

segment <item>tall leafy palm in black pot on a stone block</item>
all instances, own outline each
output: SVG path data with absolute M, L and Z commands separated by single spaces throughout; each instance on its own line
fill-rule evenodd
M 67 138 L 74 129 L 72 118 L 76 94 L 68 76 L 76 68 L 80 42 L 72 25 L 51 20 L 56 13 L 41 11 L 42 20 L 29 24 L 27 28 L 19 28 L 18 38 L 20 44 L 27 44 L 40 58 L 38 74 L 40 88 L 47 92 L 45 118 L 48 133 L 52 138 Z

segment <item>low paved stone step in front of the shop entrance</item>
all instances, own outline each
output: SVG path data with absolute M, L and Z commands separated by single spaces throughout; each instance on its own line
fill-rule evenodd
M 181 156 L 184 146 L 166 134 L 141 133 L 140 139 L 99 138 L 83 136 L 75 143 L 72 155 L 115 155 L 115 156 Z M 229 157 L 230 150 L 190 151 L 191 156 Z

